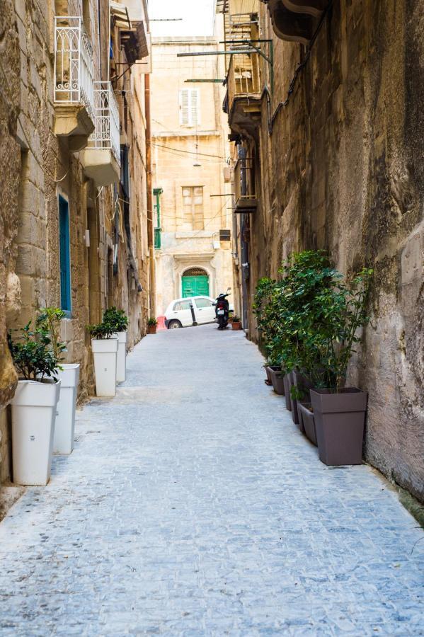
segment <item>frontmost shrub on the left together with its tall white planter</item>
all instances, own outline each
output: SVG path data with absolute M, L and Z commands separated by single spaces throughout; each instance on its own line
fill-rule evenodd
M 8 334 L 18 386 L 11 401 L 13 482 L 43 486 L 50 480 L 60 381 L 58 360 L 45 328 L 31 322 L 18 338 Z

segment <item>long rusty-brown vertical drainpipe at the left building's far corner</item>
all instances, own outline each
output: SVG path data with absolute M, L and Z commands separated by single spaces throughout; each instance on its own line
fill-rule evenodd
M 146 168 L 147 168 L 147 239 L 149 243 L 149 305 L 150 316 L 156 316 L 156 272 L 154 267 L 154 219 L 153 188 L 151 179 L 151 119 L 150 119 L 150 75 L 144 76 L 144 110 L 146 113 Z

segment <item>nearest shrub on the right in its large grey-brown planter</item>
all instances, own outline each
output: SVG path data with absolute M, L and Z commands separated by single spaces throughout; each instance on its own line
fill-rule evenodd
M 348 285 L 338 275 L 319 299 L 325 321 L 316 328 L 311 346 L 319 352 L 320 384 L 310 394 L 319 458 L 328 465 L 362 463 L 367 392 L 345 387 L 345 380 L 354 345 L 360 341 L 358 330 L 369 321 L 371 276 L 372 270 L 364 269 Z

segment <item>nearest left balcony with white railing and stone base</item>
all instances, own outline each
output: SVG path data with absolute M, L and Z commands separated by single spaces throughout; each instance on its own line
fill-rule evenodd
M 80 151 L 94 130 L 93 47 L 79 16 L 55 17 L 55 127 Z

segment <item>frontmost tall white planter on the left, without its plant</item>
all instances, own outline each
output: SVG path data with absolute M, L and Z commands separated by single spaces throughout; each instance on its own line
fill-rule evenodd
M 50 480 L 60 381 L 18 381 L 12 406 L 13 482 L 44 486 Z

